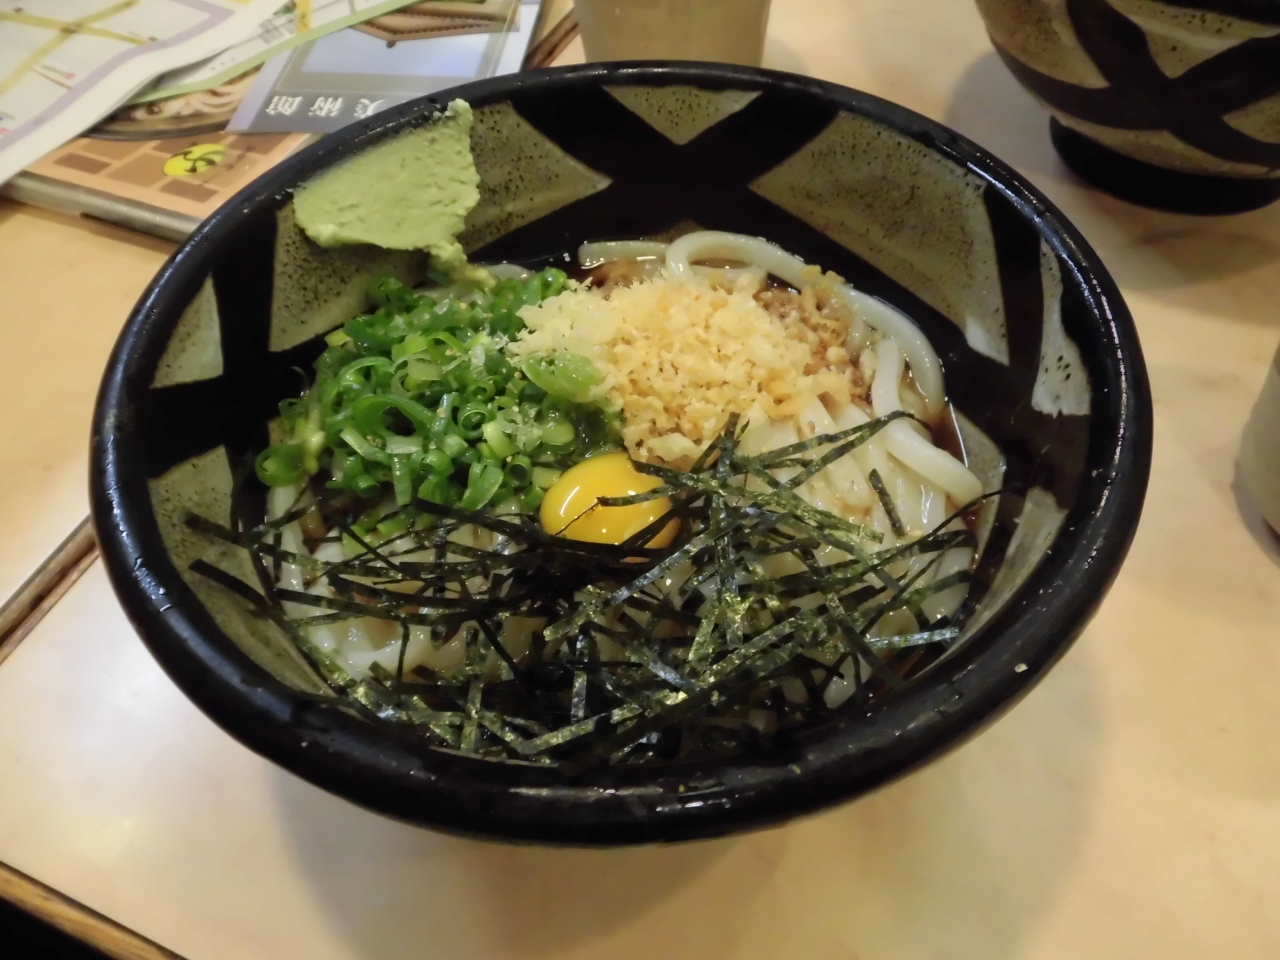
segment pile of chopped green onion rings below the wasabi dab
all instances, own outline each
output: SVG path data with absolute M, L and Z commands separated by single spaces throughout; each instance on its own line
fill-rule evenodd
M 484 494 L 497 471 L 489 507 L 531 498 L 522 493 L 534 479 L 529 461 L 573 462 L 616 436 L 594 403 L 579 399 L 599 380 L 585 358 L 541 357 L 520 370 L 504 353 L 524 330 L 520 308 L 564 282 L 547 269 L 467 282 L 435 300 L 378 278 L 372 310 L 325 334 L 314 385 L 282 402 L 283 442 L 259 456 L 259 479 L 284 486 L 326 474 L 330 489 L 366 503 L 394 497 L 403 506 L 416 494 L 456 506 Z M 454 479 L 463 467 L 466 485 Z

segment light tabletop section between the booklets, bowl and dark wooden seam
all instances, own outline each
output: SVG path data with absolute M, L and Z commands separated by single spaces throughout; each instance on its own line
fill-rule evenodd
M 0 599 L 88 513 L 106 357 L 173 244 L 0 200 Z

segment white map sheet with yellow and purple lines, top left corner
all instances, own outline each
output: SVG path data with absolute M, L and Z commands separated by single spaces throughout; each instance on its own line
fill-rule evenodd
M 280 0 L 0 0 L 0 182 L 165 70 L 252 33 Z

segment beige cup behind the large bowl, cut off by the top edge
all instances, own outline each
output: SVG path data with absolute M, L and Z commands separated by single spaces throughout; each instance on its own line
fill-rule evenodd
M 769 0 L 576 0 L 588 60 L 759 67 Z

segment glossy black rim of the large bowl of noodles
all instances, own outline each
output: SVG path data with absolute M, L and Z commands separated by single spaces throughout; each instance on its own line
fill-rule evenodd
M 248 211 L 279 205 L 317 170 L 407 127 L 453 97 L 483 105 L 579 83 L 782 87 L 824 99 L 923 142 L 995 184 L 1074 271 L 1097 319 L 1088 360 L 1092 416 L 1075 504 L 1034 572 L 929 681 L 828 724 L 791 763 L 732 758 L 691 769 L 605 768 L 567 780 L 543 767 L 453 756 L 298 695 L 214 623 L 169 561 L 146 479 L 123 456 L 143 346 L 180 315 L 204 256 Z M 1091 328 L 1092 329 L 1092 328 Z M 1084 344 L 1082 344 L 1083 347 Z M 154 352 L 154 351 L 152 351 Z M 1020 174 L 945 125 L 881 97 L 796 74 L 689 61 L 549 68 L 454 87 L 352 124 L 293 155 L 214 212 L 173 253 L 113 349 L 93 413 L 91 506 L 111 584 L 143 643 L 210 718 L 311 783 L 390 817 L 451 832 L 571 845 L 694 840 L 767 826 L 879 787 L 956 746 L 1012 707 L 1097 609 L 1138 525 L 1151 466 L 1151 392 L 1133 319 L 1080 233 Z

